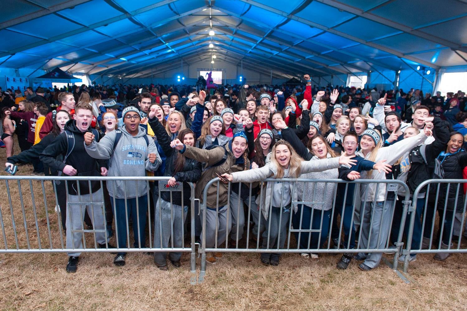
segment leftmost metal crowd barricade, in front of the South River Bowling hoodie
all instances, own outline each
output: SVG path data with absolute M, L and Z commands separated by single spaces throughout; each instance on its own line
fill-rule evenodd
M 190 258 L 190 270 L 191 270 L 191 284 L 196 284 L 196 256 L 195 256 L 195 211 L 194 211 L 194 187 L 192 183 L 188 183 L 190 186 L 191 200 L 190 202 L 183 202 L 183 185 L 182 183 L 177 183 L 175 187 L 170 187 L 167 184 L 169 177 L 101 177 L 101 176 L 90 176 L 90 177 L 57 177 L 57 176 L 0 176 L 0 188 L 6 189 L 7 197 L 4 198 L 2 204 L 0 204 L 0 225 L 1 225 L 1 235 L 3 238 L 3 246 L 0 246 L 0 253 L 84 253 L 84 252 L 189 252 L 191 254 Z M 76 181 L 74 185 L 70 182 Z M 128 200 L 125 200 L 125 219 L 126 227 L 118 228 L 116 224 L 116 199 L 111 200 L 113 203 L 113 227 L 115 228 L 114 236 L 115 241 L 112 242 L 116 244 L 115 248 L 108 248 L 109 242 L 109 231 L 107 231 L 107 219 L 106 219 L 106 207 L 105 200 L 103 200 L 103 195 L 101 196 L 99 191 L 94 191 L 89 195 L 81 194 L 83 187 L 86 186 L 91 189 L 92 182 L 99 182 L 99 187 L 103 191 L 106 187 L 106 182 L 113 181 L 113 193 L 117 188 L 123 190 L 124 196 L 135 196 L 135 193 L 138 193 L 138 182 L 144 182 L 148 189 L 147 193 L 144 195 L 147 199 L 147 206 L 140 209 L 139 200 L 135 200 L 136 204 L 136 224 L 133 222 L 133 226 L 137 226 L 138 238 L 139 232 L 141 230 L 146 230 L 146 226 L 149 224 L 149 234 L 146 235 L 148 238 L 144 241 L 145 245 L 141 244 L 140 239 L 137 240 L 136 247 L 130 247 L 130 238 L 131 238 L 131 229 L 128 222 Z M 119 185 L 115 185 L 116 182 L 119 182 Z M 25 183 L 27 185 L 25 185 Z M 51 183 L 51 185 L 50 185 Z M 4 186 L 3 186 L 4 185 Z M 77 189 L 74 189 L 74 186 L 77 186 Z M 141 184 L 140 184 L 141 186 Z M 158 187 L 156 187 L 158 186 Z M 78 200 L 76 202 L 70 202 L 71 196 L 69 195 L 69 188 L 73 187 L 73 190 L 78 194 Z M 135 187 L 134 189 L 131 189 Z M 158 188 L 158 191 L 154 190 Z M 130 190 L 131 189 L 131 190 Z M 66 192 L 65 192 L 66 191 Z M 134 192 L 132 192 L 134 191 Z M 155 210 L 156 202 L 163 200 L 161 198 L 162 191 L 170 191 L 170 223 L 172 224 L 169 228 L 164 229 L 162 225 L 162 215 L 159 213 L 159 239 L 161 239 L 161 247 L 154 246 L 153 235 L 156 237 L 157 233 L 154 231 L 154 222 L 155 222 Z M 170 239 L 171 242 L 168 246 L 163 247 L 162 245 L 162 231 L 168 230 L 170 232 L 170 237 L 174 236 L 173 231 L 173 221 L 174 221 L 174 210 L 172 204 L 172 197 L 175 192 L 180 193 L 182 196 L 182 206 L 189 206 L 191 211 L 187 215 L 191 224 L 191 245 L 186 245 L 184 243 L 184 217 L 182 211 L 182 217 L 180 224 L 181 227 L 181 247 L 174 247 L 173 239 Z M 40 195 L 38 195 L 40 193 Z M 53 195 L 53 197 L 52 197 Z M 93 200 L 93 196 L 95 200 Z M 136 195 L 137 196 L 137 195 Z M 74 195 L 73 195 L 74 197 Z M 99 197 L 99 199 L 97 199 Z M 152 198 L 151 198 L 152 197 Z M 96 202 L 94 202 L 96 201 Z M 82 228 L 76 229 L 76 227 L 71 227 L 72 234 L 81 234 L 82 247 L 75 247 L 75 240 L 72 239 L 73 247 L 66 247 L 66 234 L 65 229 L 62 226 L 61 213 L 63 212 L 64 207 L 59 206 L 59 202 L 65 202 L 69 205 L 70 209 L 77 208 L 78 206 L 88 206 L 88 214 L 91 218 L 91 228 L 84 228 L 84 219 L 79 219 L 79 223 L 82 224 Z M 151 202 L 153 206 L 151 206 Z M 51 206 L 52 205 L 52 206 Z M 54 211 L 53 205 L 59 206 Z M 108 207 L 107 207 L 108 208 Z M 101 209 L 104 217 L 104 223 L 96 223 L 94 219 L 95 209 Z M 75 210 L 76 211 L 76 210 Z M 100 211 L 98 210 L 97 213 Z M 141 213 L 149 215 L 147 221 L 144 224 L 145 228 L 141 228 L 140 217 L 144 217 Z M 72 222 L 72 213 L 68 213 L 68 221 L 71 224 Z M 83 216 L 85 212 L 80 214 Z M 76 220 L 75 220 L 76 221 Z M 126 247 L 119 247 L 119 241 L 116 238 L 118 236 L 119 230 L 126 231 Z M 90 238 L 92 235 L 92 238 Z M 105 248 L 100 248 L 98 246 L 98 241 L 96 235 L 102 235 L 105 237 Z M 149 240 L 149 247 L 146 247 Z M 87 243 L 86 243 L 87 242 Z M 0 244 L 0 245 L 1 245 Z

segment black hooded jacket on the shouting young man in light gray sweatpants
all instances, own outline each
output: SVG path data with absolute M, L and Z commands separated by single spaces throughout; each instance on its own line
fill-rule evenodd
M 77 177 L 81 176 L 101 176 L 100 168 L 106 167 L 106 160 L 98 160 L 92 158 L 85 150 L 84 134 L 76 127 L 76 121 L 70 120 L 65 124 L 65 130 L 70 131 L 75 138 L 75 146 L 73 151 L 66 159 L 66 162 L 57 160 L 57 156 L 65 157 L 68 150 L 68 139 L 66 132 L 61 133 L 48 145 L 39 156 L 39 159 L 44 165 L 50 166 L 51 170 L 63 171 L 67 165 L 73 166 L 78 173 Z M 90 129 L 87 131 L 91 132 Z M 100 140 L 100 135 L 98 141 Z M 72 178 L 72 176 L 71 176 Z M 91 181 L 91 192 L 96 192 L 100 188 L 100 181 Z M 68 181 L 68 193 L 78 195 L 78 186 L 76 181 Z M 79 181 L 79 193 L 82 195 L 89 194 L 88 181 Z

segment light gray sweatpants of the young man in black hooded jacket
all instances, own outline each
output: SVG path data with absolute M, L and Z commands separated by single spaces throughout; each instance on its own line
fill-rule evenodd
M 91 199 L 92 196 L 92 199 Z M 81 199 L 81 200 L 80 200 Z M 94 203 L 92 205 L 81 205 L 73 203 Z M 71 230 L 83 230 L 85 210 L 91 217 L 94 230 L 106 230 L 106 219 L 104 215 L 104 194 L 102 189 L 88 195 L 68 195 L 66 206 L 66 248 L 83 248 L 84 233 Z M 99 244 L 106 243 L 106 233 L 96 232 L 96 241 Z M 94 247 L 94 245 L 92 245 Z M 68 256 L 78 257 L 81 253 L 67 253 Z

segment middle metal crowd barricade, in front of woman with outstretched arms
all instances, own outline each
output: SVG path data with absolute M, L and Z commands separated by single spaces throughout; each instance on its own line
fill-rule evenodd
M 357 180 L 357 181 L 343 181 L 343 180 L 340 180 L 340 179 L 321 179 L 321 180 L 316 180 L 316 179 L 304 179 L 304 178 L 298 178 L 298 179 L 290 179 L 290 178 L 282 178 L 282 179 L 274 179 L 274 178 L 268 178 L 264 181 L 262 181 L 260 183 L 260 186 L 259 187 L 259 193 L 258 193 L 258 196 L 259 198 L 257 199 L 257 196 L 255 195 L 255 191 L 257 189 L 254 189 L 255 187 L 253 186 L 253 184 L 249 184 L 249 186 L 246 186 L 245 184 L 242 184 L 242 183 L 239 183 L 239 188 L 238 188 L 238 193 L 239 193 L 239 197 L 241 196 L 241 188 L 245 188 L 247 187 L 248 188 L 248 193 L 249 193 L 249 196 L 246 197 L 246 198 L 240 198 L 238 201 L 236 201 L 236 203 L 239 205 L 237 207 L 233 206 L 233 209 L 232 209 L 232 204 L 231 204 L 231 191 L 232 191 L 232 183 L 229 182 L 228 186 L 227 186 L 227 192 L 228 192 L 228 196 L 227 196 L 227 202 L 225 203 L 224 206 L 220 205 L 219 203 L 219 185 L 222 181 L 219 180 L 219 178 L 214 178 L 212 179 L 211 181 L 209 181 L 204 189 L 204 192 L 203 192 L 203 202 L 201 203 L 200 205 L 200 210 L 202 211 L 202 227 L 203 227 L 203 231 L 202 231 L 202 236 L 201 236 L 201 245 L 199 246 L 198 248 L 198 252 L 201 254 L 201 270 L 200 270 L 200 274 L 199 274 L 199 277 L 198 277 L 198 282 L 203 282 L 204 280 L 204 277 L 205 277 L 205 273 L 206 273 L 206 253 L 218 253 L 218 252 L 223 252 L 223 253 L 393 253 L 394 254 L 394 261 L 393 261 L 393 266 L 392 268 L 394 270 L 397 269 L 397 260 L 398 260 L 398 257 L 399 257 L 399 254 L 400 252 L 402 251 L 402 246 L 403 246 L 403 243 L 402 243 L 402 237 L 403 237 L 403 227 L 404 227 L 404 224 L 405 224 L 405 216 L 407 214 L 407 210 L 409 208 L 409 205 L 410 205 L 410 200 L 409 200 L 409 188 L 407 187 L 407 185 L 405 183 L 403 183 L 402 181 L 397 181 L 397 180 Z M 261 222 L 266 222 L 266 220 L 264 219 L 264 217 L 262 217 L 262 212 L 261 212 L 261 206 L 262 206 L 262 203 L 263 203 L 263 192 L 266 191 L 266 183 L 267 182 L 280 182 L 281 183 L 281 189 L 282 189 L 282 194 L 281 194 L 281 202 L 282 202 L 282 198 L 283 198 L 283 189 L 284 187 L 286 187 L 287 185 L 285 184 L 286 182 L 288 183 L 291 183 L 291 187 L 292 187 L 292 194 L 291 194 L 291 197 L 292 197 L 292 202 L 291 202 L 291 205 L 293 206 L 294 204 L 303 204 L 303 205 L 307 205 L 307 206 L 323 206 L 325 204 L 325 202 L 327 202 L 328 200 L 332 200 L 332 210 L 331 210 L 331 219 L 330 219 L 330 226 L 329 226 L 329 231 L 327 232 L 328 234 L 328 238 L 327 238 L 327 242 L 324 243 L 326 241 L 326 238 L 325 237 L 322 237 L 322 228 L 323 228 L 323 223 L 326 221 L 325 219 L 323 219 L 323 213 L 321 213 L 321 219 L 320 219 L 320 225 L 319 225 L 319 229 L 311 229 L 311 224 L 310 224 L 310 228 L 309 229 L 302 229 L 302 221 L 303 221 L 303 209 L 301 210 L 301 213 L 302 215 L 300 215 L 300 225 L 299 227 L 300 228 L 294 228 L 292 226 L 292 214 L 293 214 L 293 209 L 290 210 L 290 218 L 289 219 L 283 219 L 282 215 L 283 213 L 280 214 L 280 217 L 279 217 L 279 227 L 281 226 L 281 223 L 282 222 L 287 222 L 287 238 L 285 239 L 285 241 L 283 241 L 284 243 L 286 243 L 284 245 L 284 247 L 279 247 L 280 246 L 280 239 L 281 239 L 281 236 L 280 236 L 280 233 L 277 235 L 277 247 L 276 248 L 269 248 L 269 242 L 270 242 L 270 230 L 268 230 L 268 233 L 267 233 L 267 236 L 262 236 L 263 239 L 267 239 L 268 243 L 267 243 L 267 247 L 266 248 L 262 248 L 261 245 L 260 245 L 260 238 L 261 238 Z M 297 201 L 294 201 L 293 200 L 293 197 L 294 197 L 294 194 L 295 192 L 297 191 L 297 183 L 299 182 L 308 182 L 308 183 L 314 183 L 314 193 L 313 193 L 313 201 L 312 202 L 305 202 L 304 201 L 304 194 L 302 195 L 302 197 L 298 197 L 297 198 Z M 345 195 L 344 195 L 344 199 L 343 199 L 343 203 L 346 202 L 346 199 L 347 199 L 347 195 L 352 195 L 352 193 L 347 193 L 347 189 L 349 187 L 349 185 L 351 184 L 358 184 L 360 185 L 361 187 L 364 187 L 364 197 L 367 197 L 368 196 L 368 184 L 376 184 L 375 186 L 375 192 L 377 193 L 378 192 L 378 189 L 380 187 L 382 187 L 382 185 L 386 185 L 387 187 L 387 191 L 386 191 L 386 194 L 385 194 L 385 198 L 384 198 L 384 201 L 387 202 L 387 195 L 388 195 L 388 192 L 394 192 L 395 194 L 395 198 L 397 198 L 397 191 L 398 189 L 400 188 L 404 188 L 405 190 L 405 195 L 404 196 L 404 200 L 402 201 L 402 204 L 403 204 L 403 211 L 402 211 L 402 221 L 401 221 L 401 227 L 400 227 L 400 230 L 398 231 L 398 236 L 397 236 L 397 241 L 393 241 L 396 245 L 396 248 L 394 247 L 389 247 L 389 232 L 391 231 L 391 224 L 392 224 L 392 219 L 394 217 L 394 207 L 395 207 L 395 204 L 396 204 L 396 199 L 394 199 L 393 202 L 389 202 L 387 203 L 388 204 L 388 209 L 390 209 L 390 219 L 378 219 L 379 221 L 379 230 L 377 230 L 378 232 L 374 232 L 372 229 L 370 229 L 369 231 L 369 234 L 368 234 L 368 240 L 371 240 L 372 238 L 372 234 L 373 234 L 373 239 L 375 239 L 375 235 L 377 235 L 377 242 L 382 242 L 384 241 L 384 247 L 381 248 L 368 248 L 368 247 L 363 247 L 363 245 L 361 245 L 361 237 L 362 237 L 362 231 L 360 230 L 359 231 L 359 235 L 358 235 L 358 239 L 357 239 L 357 243 L 355 245 L 355 248 L 351 249 L 349 248 L 349 245 L 350 245 L 350 239 L 347 239 L 347 245 L 342 245 L 341 242 L 344 240 L 344 236 L 342 234 L 343 232 L 343 217 L 341 216 L 341 219 L 340 219 L 340 222 L 337 222 L 337 225 L 339 226 L 339 238 L 338 238 L 338 243 L 337 243 L 337 246 L 336 248 L 332 248 L 331 247 L 331 232 L 333 230 L 332 226 L 333 226 L 333 222 L 334 222 L 334 217 L 335 217 L 335 211 L 336 209 L 340 209 L 339 206 L 336 206 L 336 202 L 334 200 L 334 198 L 336 198 L 336 195 L 337 195 L 337 184 L 338 183 L 343 183 L 345 185 Z M 207 197 L 207 192 L 208 192 L 208 189 L 210 187 L 214 186 L 215 188 L 217 188 L 217 191 L 216 191 L 216 197 L 215 197 L 215 201 L 213 200 L 212 196 L 210 198 Z M 315 198 L 317 197 L 317 188 L 318 187 L 321 187 L 321 189 L 324 188 L 324 193 L 326 193 L 326 190 L 329 188 L 329 187 L 333 187 L 333 197 L 324 197 L 323 200 L 320 200 L 320 201 L 317 201 L 315 200 Z M 322 191 L 322 190 L 319 190 L 319 191 Z M 350 192 L 350 191 L 349 191 Z M 222 194 L 220 194 L 222 195 Z M 268 194 L 269 195 L 269 194 Z M 352 210 L 352 225 L 354 225 L 355 223 L 358 223 L 359 221 L 359 214 L 360 214 L 360 211 L 363 211 L 363 213 L 365 212 L 365 209 L 370 209 L 372 208 L 369 204 L 369 202 L 363 202 L 362 206 L 360 206 L 360 209 L 357 208 L 357 205 L 358 204 L 355 204 L 355 202 L 357 201 L 356 198 L 359 198 L 360 199 L 360 193 L 358 193 L 358 187 L 354 187 L 354 190 L 353 190 L 353 195 L 354 195 L 354 204 L 353 205 L 353 210 Z M 214 231 L 211 231 L 211 232 L 207 232 L 206 229 L 206 224 L 207 224 L 207 221 L 206 221 L 206 212 L 207 212 L 207 205 L 206 205 L 206 202 L 209 200 L 209 205 L 211 205 L 211 208 L 210 210 L 212 211 L 215 211 L 216 212 L 216 219 L 215 219 L 215 230 Z M 253 243 L 250 243 L 249 241 L 249 238 L 250 238 L 250 229 L 252 229 L 250 227 L 250 220 L 254 219 L 255 218 L 255 211 L 252 209 L 252 206 L 255 206 L 255 204 L 252 204 L 254 201 L 257 201 L 259 204 L 259 217 L 257 218 L 257 220 L 255 220 L 257 223 L 253 224 L 253 227 L 257 227 L 258 230 L 255 230 L 256 233 L 255 233 L 255 237 L 256 239 L 255 242 Z M 223 202 L 222 202 L 223 203 Z M 246 214 L 246 221 L 245 221 L 245 229 L 244 229 L 244 234 L 243 232 L 239 232 L 241 231 L 241 224 L 240 224 L 240 221 L 237 221 L 236 224 L 232 224 L 232 229 L 236 229 L 236 234 L 235 234 L 235 239 L 231 239 L 229 238 L 229 222 L 231 223 L 232 221 L 230 219 L 239 219 L 241 218 L 240 217 L 240 213 L 243 213 L 243 203 L 245 203 L 246 207 L 245 207 L 245 211 L 247 212 Z M 358 202 L 357 202 L 358 203 Z M 375 203 L 375 201 L 373 201 L 373 203 Z M 386 204 L 386 203 L 385 203 Z M 389 205 L 390 204 L 390 205 Z M 272 212 L 272 199 L 271 199 L 271 203 L 270 203 L 270 206 L 268 207 L 269 208 L 269 215 L 271 214 Z M 225 216 L 222 216 L 222 217 L 226 217 L 226 224 L 225 224 L 225 231 L 226 231 L 226 237 L 225 237 L 225 240 L 222 239 L 222 240 L 219 240 L 218 241 L 218 235 L 219 235 L 219 230 L 221 230 L 221 234 L 223 235 L 223 231 L 224 231 L 224 228 L 219 228 L 219 210 L 222 210 L 222 209 L 226 209 L 226 212 L 223 211 L 226 215 Z M 233 211 L 232 211 L 233 210 Z M 315 212 L 315 209 L 313 208 L 312 211 L 311 211 L 311 218 L 313 218 L 313 213 Z M 372 213 L 373 215 L 373 213 Z M 212 217 L 212 216 L 211 216 Z M 284 216 L 285 217 L 285 216 Z M 374 221 L 376 221 L 375 219 L 373 219 L 374 217 L 372 216 L 371 217 L 371 223 L 373 223 Z M 336 218 L 337 220 L 337 218 Z M 224 220 L 222 220 L 224 221 Z M 382 224 L 383 222 L 389 222 L 389 230 L 387 230 L 386 232 L 382 232 Z M 388 224 L 388 223 L 386 223 Z M 211 224 L 211 227 L 213 225 Z M 236 228 L 235 228 L 236 227 Z M 370 227 L 371 228 L 371 227 Z M 269 228 L 270 229 L 270 223 L 269 223 Z M 389 232 L 388 232 L 389 231 Z M 293 245 L 293 239 L 291 240 L 291 233 L 295 233 L 298 235 L 298 238 L 296 240 L 300 240 L 300 236 L 302 234 L 308 234 L 308 248 L 307 249 L 304 249 L 304 248 L 299 248 L 299 244 L 298 244 L 298 241 L 297 241 L 297 247 L 294 247 Z M 316 248 L 310 248 L 310 240 L 311 240 L 311 235 L 312 233 L 318 233 L 318 247 Z M 325 235 L 326 235 L 326 232 L 324 232 Z M 239 236 L 241 236 L 243 234 L 243 236 L 246 236 L 246 245 L 245 246 L 242 246 L 242 247 L 239 247 Z M 206 235 L 211 235 L 211 237 L 209 237 L 211 240 L 212 240 L 212 237 L 214 237 L 214 246 L 213 247 L 207 247 L 206 246 Z M 348 232 L 348 235 L 350 235 L 350 231 Z M 387 237 L 384 237 L 386 236 Z M 229 241 L 232 241 L 231 244 L 229 245 Z M 320 247 L 322 246 L 322 247 Z

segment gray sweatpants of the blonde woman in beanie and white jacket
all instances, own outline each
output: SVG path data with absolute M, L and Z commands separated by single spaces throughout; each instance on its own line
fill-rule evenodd
M 394 201 L 361 203 L 360 248 L 386 248 L 393 208 Z M 376 268 L 382 258 L 382 253 L 359 253 L 359 255 L 366 258 L 363 263 L 370 268 Z

